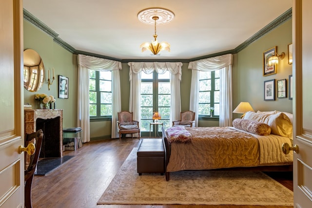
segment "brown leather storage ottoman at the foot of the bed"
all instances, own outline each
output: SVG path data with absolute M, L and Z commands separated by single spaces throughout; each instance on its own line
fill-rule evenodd
M 137 172 L 142 173 L 165 172 L 165 149 L 162 139 L 142 139 L 137 150 Z

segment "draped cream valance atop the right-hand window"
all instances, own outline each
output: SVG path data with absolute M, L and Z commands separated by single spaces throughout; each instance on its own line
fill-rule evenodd
M 229 65 L 233 65 L 232 54 L 192 61 L 189 63 L 188 69 L 198 71 L 215 71 Z

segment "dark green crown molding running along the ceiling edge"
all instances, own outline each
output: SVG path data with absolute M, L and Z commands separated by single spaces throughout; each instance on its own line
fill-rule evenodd
M 66 43 L 65 41 L 63 41 L 61 38 L 58 38 L 59 34 L 54 32 L 51 28 L 49 28 L 47 25 L 45 25 L 39 19 L 34 17 L 26 9 L 23 9 L 23 18 L 25 20 L 29 21 L 30 23 L 32 23 L 33 25 L 35 25 L 36 27 L 38 27 L 40 30 L 42 30 L 43 32 L 45 32 L 49 36 L 51 36 L 53 38 L 54 42 L 58 43 L 65 50 L 67 50 L 73 54 L 76 54 L 76 55 L 82 54 L 82 55 L 86 55 L 86 56 L 105 58 L 105 59 L 120 61 L 122 63 L 140 62 L 140 61 L 144 61 L 144 62 L 155 62 L 155 61 L 157 61 L 157 62 L 176 62 L 176 61 L 179 61 L 179 62 L 183 62 L 183 63 L 188 63 L 191 61 L 196 61 L 196 60 L 200 60 L 200 59 L 204 59 L 204 58 L 222 56 L 222 55 L 226 55 L 226 54 L 237 54 L 238 52 L 240 52 L 241 50 L 243 50 L 244 48 L 249 46 L 251 43 L 253 43 L 257 39 L 266 35 L 267 33 L 272 31 L 273 29 L 275 29 L 279 25 L 283 24 L 285 21 L 291 19 L 292 18 L 292 8 L 287 10 L 285 13 L 280 15 L 278 18 L 274 19 L 271 23 L 269 23 L 267 26 L 262 28 L 256 34 L 254 34 L 251 38 L 248 38 L 246 41 L 241 43 L 235 49 L 228 50 L 228 51 L 222 51 L 222 52 L 218 52 L 215 54 L 210 54 L 210 55 L 206 55 L 206 56 L 202 56 L 202 57 L 194 57 L 194 58 L 190 58 L 190 59 L 160 59 L 160 60 L 159 59 L 157 59 L 157 60 L 156 59 L 118 59 L 118 58 L 114 58 L 114 57 L 107 57 L 107 56 L 102 56 L 102 55 L 98 55 L 98 54 L 93 54 L 93 53 L 89 53 L 89 52 L 85 52 L 85 51 L 79 51 L 79 50 L 76 50 L 71 45 L 69 45 L 68 43 Z

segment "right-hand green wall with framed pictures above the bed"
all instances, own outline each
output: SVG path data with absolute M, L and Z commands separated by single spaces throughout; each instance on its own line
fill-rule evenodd
M 288 64 L 288 44 L 292 43 L 292 19 L 279 25 L 234 56 L 233 108 L 241 101 L 249 102 L 254 111 L 285 111 L 292 113 L 292 100 L 288 98 L 288 76 L 292 64 Z M 285 52 L 279 60 L 277 74 L 263 76 L 263 52 L 277 46 L 277 53 Z M 275 101 L 264 101 L 264 81 L 275 79 Z M 277 98 L 276 81 L 287 79 L 287 97 Z M 233 113 L 234 118 L 241 114 Z

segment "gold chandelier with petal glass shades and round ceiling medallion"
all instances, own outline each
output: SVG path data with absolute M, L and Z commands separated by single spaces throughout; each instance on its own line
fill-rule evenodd
M 144 9 L 137 14 L 137 18 L 146 24 L 154 24 L 155 34 L 153 35 L 154 41 L 152 42 L 143 42 L 140 45 L 142 52 L 150 50 L 154 55 L 158 54 L 159 51 L 169 51 L 170 44 L 166 41 L 158 42 L 156 34 L 156 24 L 165 24 L 170 22 L 175 17 L 175 14 L 167 9 L 162 8 L 150 8 Z

